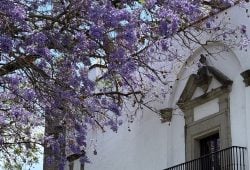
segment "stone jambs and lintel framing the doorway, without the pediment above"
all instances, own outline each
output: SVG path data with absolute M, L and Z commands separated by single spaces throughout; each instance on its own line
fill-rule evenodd
M 193 121 L 193 108 L 185 111 L 186 160 L 200 156 L 199 140 L 219 133 L 220 148 L 231 146 L 231 127 L 228 94 L 219 96 L 219 112 Z

